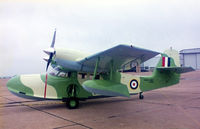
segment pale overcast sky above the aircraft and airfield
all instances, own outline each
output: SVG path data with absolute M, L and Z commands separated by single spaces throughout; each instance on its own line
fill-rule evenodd
M 55 47 L 91 54 L 200 48 L 199 14 L 199 0 L 1 0 L 0 76 L 44 73 L 55 28 Z

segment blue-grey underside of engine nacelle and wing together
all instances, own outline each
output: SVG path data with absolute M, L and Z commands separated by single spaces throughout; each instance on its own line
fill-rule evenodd
M 160 53 L 128 45 L 118 45 L 97 54 L 91 55 L 80 61 L 67 61 L 56 58 L 59 66 L 66 70 L 93 72 L 97 59 L 99 59 L 97 72 L 109 72 L 111 62 L 113 69 L 120 69 L 129 62 L 143 63 Z

